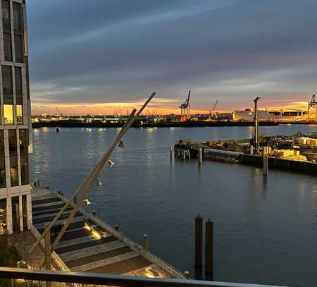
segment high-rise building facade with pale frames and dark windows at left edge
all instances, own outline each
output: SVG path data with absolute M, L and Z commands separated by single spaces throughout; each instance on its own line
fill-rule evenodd
M 30 85 L 25 0 L 0 0 L 0 233 L 30 228 Z

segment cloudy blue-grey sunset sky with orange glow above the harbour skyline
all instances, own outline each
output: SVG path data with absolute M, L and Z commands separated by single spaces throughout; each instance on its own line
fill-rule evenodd
M 306 107 L 316 0 L 28 0 L 32 114 Z

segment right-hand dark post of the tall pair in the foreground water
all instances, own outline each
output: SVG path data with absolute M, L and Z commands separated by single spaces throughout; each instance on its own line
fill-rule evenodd
M 206 279 L 213 280 L 213 221 L 206 221 Z

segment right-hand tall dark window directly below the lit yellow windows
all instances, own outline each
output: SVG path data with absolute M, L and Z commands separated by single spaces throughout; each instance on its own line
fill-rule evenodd
M 21 183 L 23 185 L 30 183 L 29 182 L 28 139 L 29 138 L 28 138 L 27 130 L 19 130 Z

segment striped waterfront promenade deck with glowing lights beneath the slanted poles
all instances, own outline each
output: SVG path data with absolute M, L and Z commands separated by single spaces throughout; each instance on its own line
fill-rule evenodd
M 54 219 L 65 202 L 66 198 L 60 193 L 53 193 L 46 188 L 33 188 L 33 226 L 38 233 L 43 233 L 44 226 Z M 51 242 L 54 242 L 72 210 L 73 206 L 68 207 L 51 228 Z M 82 209 L 75 214 L 55 252 L 61 264 L 66 266 L 63 269 L 70 271 L 187 278 L 178 269 L 125 237 L 122 231 L 116 231 L 116 228 Z

